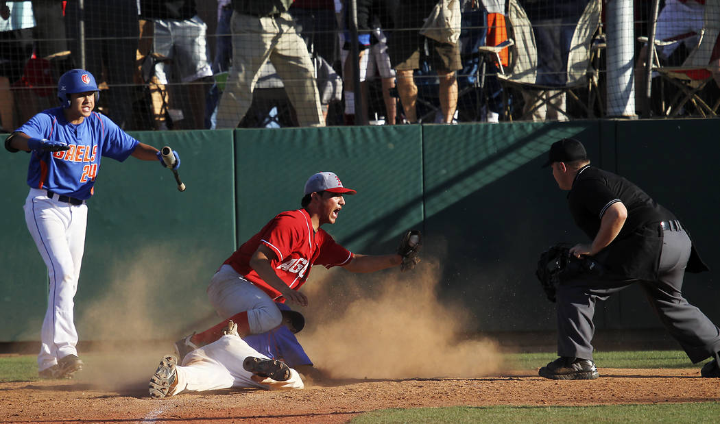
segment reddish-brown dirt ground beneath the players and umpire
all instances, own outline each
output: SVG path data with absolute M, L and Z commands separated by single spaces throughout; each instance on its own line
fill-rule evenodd
M 348 379 L 290 392 L 230 389 L 164 400 L 148 398 L 141 382 L 119 390 L 72 380 L 12 382 L 0 384 L 0 420 L 342 423 L 388 407 L 720 400 L 720 379 L 703 379 L 699 369 L 600 369 L 600 379 L 578 382 L 536 375 L 536 370 L 528 370 L 474 379 Z

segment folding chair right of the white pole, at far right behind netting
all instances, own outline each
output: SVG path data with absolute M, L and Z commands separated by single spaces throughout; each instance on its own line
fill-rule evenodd
M 703 12 L 703 28 L 699 34 L 684 34 L 673 40 L 655 40 L 653 55 L 653 73 L 657 73 L 664 83 L 676 89 L 669 101 L 665 101 L 665 84 L 660 85 L 660 105 L 665 116 L 679 114 L 696 115 L 703 118 L 718 116 L 720 98 L 708 102 L 703 98 L 705 88 L 713 80 L 713 73 L 720 72 L 720 0 L 706 0 Z M 658 59 L 658 47 L 683 42 L 690 37 L 698 37 L 697 45 L 690 48 L 688 57 L 680 66 L 662 65 Z M 647 43 L 647 37 L 639 41 Z

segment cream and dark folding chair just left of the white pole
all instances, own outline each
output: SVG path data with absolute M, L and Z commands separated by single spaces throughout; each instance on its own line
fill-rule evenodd
M 526 3 L 531 4 L 523 0 L 508 0 L 507 4 L 510 65 L 500 65 L 498 73 L 505 88 L 505 119 L 513 119 L 509 88 L 525 98 L 526 107 L 516 119 L 544 120 L 541 111 L 545 109 L 557 114 L 558 119 L 573 119 L 569 105 L 563 104 L 566 98 L 580 106 L 585 116 L 601 116 L 603 106 L 594 65 L 603 47 L 596 38 L 602 1 L 534 1 L 532 4 L 547 5 L 546 10 L 530 9 L 530 14 L 523 8 Z

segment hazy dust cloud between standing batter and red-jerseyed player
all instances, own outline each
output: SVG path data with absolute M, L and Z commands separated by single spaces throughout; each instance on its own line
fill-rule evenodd
M 204 269 L 207 260 L 202 254 L 188 256 L 167 245 L 145 246 L 131 257 L 116 258 L 107 264 L 108 280 L 95 282 L 104 287 L 102 296 L 76 305 L 81 341 L 92 339 L 89 351 L 78 352 L 85 366 L 76 380 L 104 389 L 147 392 L 160 359 L 173 353 L 172 341 L 183 331 L 176 323 L 212 310 L 205 295 L 212 271 Z M 83 289 L 81 283 L 78 292 Z

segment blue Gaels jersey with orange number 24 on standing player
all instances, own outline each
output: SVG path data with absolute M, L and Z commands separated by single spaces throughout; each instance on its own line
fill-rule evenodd
M 61 107 L 40 112 L 16 131 L 70 147 L 63 152 L 30 152 L 27 185 L 81 200 L 93 195 L 102 156 L 122 162 L 138 145 L 107 116 L 93 112 L 81 124 L 71 124 Z

